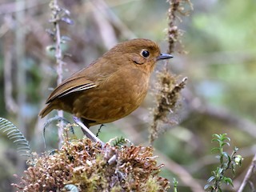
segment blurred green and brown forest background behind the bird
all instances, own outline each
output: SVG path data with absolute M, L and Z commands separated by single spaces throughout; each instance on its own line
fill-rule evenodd
M 56 86 L 54 54 L 46 49 L 53 44 L 46 33 L 52 28 L 50 1 L 10 1 L 0 3 L 0 117 L 14 122 L 30 141 L 32 150 L 41 153 L 58 147 L 54 123 L 46 130 L 46 149 L 39 119 L 51 89 Z M 77 0 L 58 1 L 70 10 L 74 25 L 61 23 L 61 33 L 70 37 L 62 46 L 66 62 L 63 75 L 90 64 L 116 43 L 130 38 L 150 38 L 165 52 L 167 10 L 165 0 Z M 203 191 L 217 159 L 210 149 L 212 134 L 227 133 L 231 153 L 239 148 L 244 162 L 234 178 L 236 191 L 256 154 L 256 2 L 253 0 L 192 1 L 185 3 L 189 16 L 178 14 L 176 25 L 182 30 L 182 46 L 176 46 L 168 68 L 181 78 L 188 77 L 178 110 L 163 124 L 165 134 L 154 142 L 158 163 L 165 164 L 162 176 L 178 180 L 178 191 Z M 181 22 L 182 20 L 182 22 Z M 179 54 L 180 51 L 186 54 Z M 156 70 L 161 71 L 163 63 Z M 154 89 L 156 74 L 151 79 Z M 154 92 L 128 117 L 102 128 L 100 138 L 124 136 L 135 144 L 148 145 L 154 107 Z M 56 115 L 56 111 L 50 116 Z M 72 119 L 70 114 L 66 118 Z M 95 132 L 98 127 L 92 128 Z M 79 137 L 81 131 L 76 130 Z M 21 174 L 24 161 L 14 144 L 0 133 L 0 191 L 12 191 L 12 174 Z M 185 172 L 183 172 L 183 170 Z M 231 175 L 231 174 L 230 174 Z M 194 178 L 193 181 L 190 178 Z M 255 182 L 255 181 L 254 181 Z M 193 187 L 201 186 L 194 190 Z M 247 186 L 246 190 L 251 191 Z

